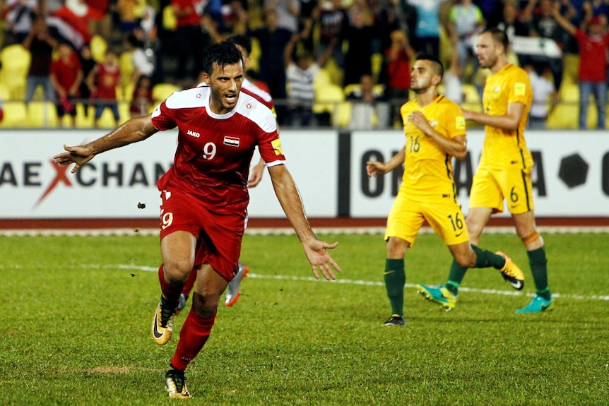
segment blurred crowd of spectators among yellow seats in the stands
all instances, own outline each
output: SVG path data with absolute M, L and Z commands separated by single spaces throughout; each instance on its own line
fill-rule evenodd
M 530 73 L 532 127 L 605 128 L 609 0 L 0 0 L 0 16 L 4 126 L 36 102 L 48 126 L 146 114 L 199 83 L 209 44 L 245 35 L 280 125 L 400 127 L 419 52 L 444 62 L 447 97 L 481 108 L 475 38 L 497 26 Z

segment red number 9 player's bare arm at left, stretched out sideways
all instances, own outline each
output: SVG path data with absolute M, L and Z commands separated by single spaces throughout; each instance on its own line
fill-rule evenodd
M 102 138 L 97 138 L 97 140 L 91 141 L 86 145 L 76 145 L 74 147 L 64 145 L 66 152 L 55 155 L 53 159 L 59 165 L 76 164 L 71 171 L 74 173 L 85 163 L 92 160 L 95 155 L 145 140 L 157 131 L 152 124 L 150 114 L 148 116 L 136 117 L 117 127 L 117 129 L 112 130 L 112 132 Z

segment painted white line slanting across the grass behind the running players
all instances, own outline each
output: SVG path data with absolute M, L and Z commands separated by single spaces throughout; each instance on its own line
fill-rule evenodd
M 89 268 L 100 268 L 99 265 L 91 265 Z M 151 266 L 141 266 L 141 265 L 104 265 L 104 268 L 119 268 L 124 270 L 141 270 L 143 272 L 158 272 L 158 267 Z M 259 273 L 247 273 L 247 277 L 251 277 L 254 279 L 273 279 L 273 280 L 298 280 L 302 282 L 319 282 L 319 280 L 315 279 L 312 276 L 288 276 L 288 275 L 261 275 Z M 363 285 L 363 286 L 385 286 L 384 282 L 373 281 L 373 280 L 350 280 L 350 279 L 337 279 L 333 280 L 329 283 L 338 283 L 343 285 Z M 412 283 L 407 283 L 406 287 L 414 288 L 416 285 Z M 514 290 L 497 290 L 497 289 L 474 289 L 471 287 L 459 287 L 461 292 L 472 292 L 472 293 L 481 293 L 481 294 L 499 294 L 502 296 L 528 296 L 533 297 L 535 294 L 533 293 L 522 293 L 516 292 Z M 609 301 L 608 296 L 598 296 L 596 294 L 593 295 L 582 295 L 582 294 L 560 294 L 560 293 L 552 293 L 552 297 L 557 299 L 578 299 L 578 300 L 603 300 Z

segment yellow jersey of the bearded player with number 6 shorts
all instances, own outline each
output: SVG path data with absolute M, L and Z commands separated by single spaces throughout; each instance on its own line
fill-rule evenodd
M 524 129 L 532 102 L 533 88 L 524 69 L 507 64 L 499 72 L 486 78 L 483 94 L 485 114 L 491 116 L 507 114 L 509 103 L 522 103 L 525 109 L 517 130 L 485 126 L 486 136 L 480 165 L 497 169 L 512 165 L 519 165 L 522 168 L 533 165 L 531 152 L 524 140 Z

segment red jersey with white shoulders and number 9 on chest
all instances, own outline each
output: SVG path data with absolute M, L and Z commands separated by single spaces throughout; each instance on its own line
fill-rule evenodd
M 234 109 L 215 114 L 208 87 L 175 92 L 152 114 L 156 129 L 178 128 L 174 165 L 158 181 L 160 191 L 180 189 L 218 208 L 247 208 L 247 178 L 254 148 L 268 167 L 285 162 L 273 113 L 240 92 Z

